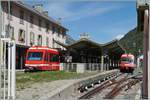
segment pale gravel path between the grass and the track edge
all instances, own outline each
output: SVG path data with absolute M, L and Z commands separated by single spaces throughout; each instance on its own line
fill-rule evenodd
M 16 100 L 43 100 L 45 97 L 47 97 L 47 95 L 48 96 L 52 95 L 54 90 L 61 89 L 62 87 L 66 87 L 76 82 L 79 78 L 88 77 L 91 75 L 95 75 L 97 73 L 99 72 L 96 71 L 91 73 L 87 72 L 76 79 L 34 83 L 30 86 L 27 86 L 25 89 L 22 90 L 17 89 Z

